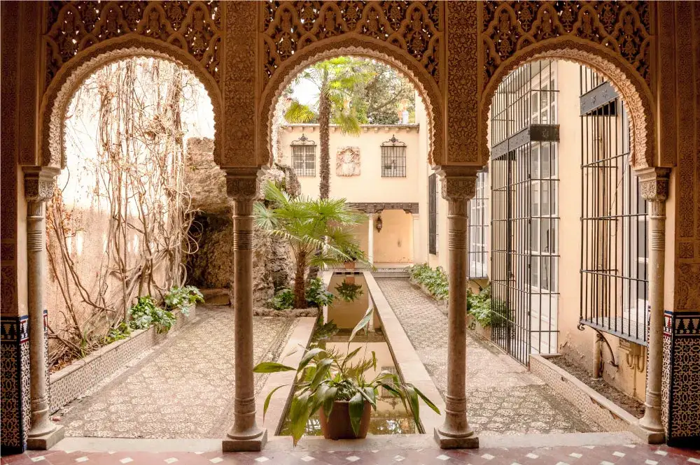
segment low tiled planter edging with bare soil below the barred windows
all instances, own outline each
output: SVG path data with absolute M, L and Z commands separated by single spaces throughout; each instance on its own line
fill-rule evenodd
M 631 431 L 649 443 L 656 442 L 654 435 L 647 434 L 638 427 L 637 417 L 573 374 L 556 366 L 549 360 L 552 357 L 560 355 L 530 355 L 530 371 L 605 431 Z

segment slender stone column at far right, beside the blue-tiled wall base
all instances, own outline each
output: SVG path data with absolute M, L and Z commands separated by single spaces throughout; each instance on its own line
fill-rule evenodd
M 661 378 L 664 362 L 664 260 L 666 259 L 666 198 L 668 173 L 665 168 L 636 171 L 641 194 L 649 211 L 649 336 L 647 338 L 647 387 L 644 416 L 639 420 L 645 440 L 664 442 L 661 423 Z

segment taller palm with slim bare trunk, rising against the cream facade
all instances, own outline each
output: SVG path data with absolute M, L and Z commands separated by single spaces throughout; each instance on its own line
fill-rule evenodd
M 338 124 L 342 134 L 359 136 L 360 124 L 366 115 L 352 105 L 353 93 L 372 77 L 366 66 L 349 57 L 338 57 L 318 62 L 305 69 L 299 80 L 307 80 L 318 89 L 317 108 L 293 100 L 284 117 L 288 122 L 310 122 L 318 118 L 321 138 L 320 174 L 318 194 L 321 199 L 330 195 L 330 122 Z

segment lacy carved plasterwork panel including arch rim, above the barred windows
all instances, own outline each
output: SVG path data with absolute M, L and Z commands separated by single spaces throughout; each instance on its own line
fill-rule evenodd
M 484 92 L 480 102 L 482 160 L 491 99 L 507 73 L 537 59 L 585 64 L 606 76 L 627 103 L 633 164 L 654 166 L 647 2 L 484 2 Z M 449 46 L 449 45 L 448 45 Z

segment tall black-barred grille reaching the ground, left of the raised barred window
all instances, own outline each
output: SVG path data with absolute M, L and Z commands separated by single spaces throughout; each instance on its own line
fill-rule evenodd
M 491 338 L 528 364 L 556 352 L 556 62 L 506 76 L 491 105 Z

